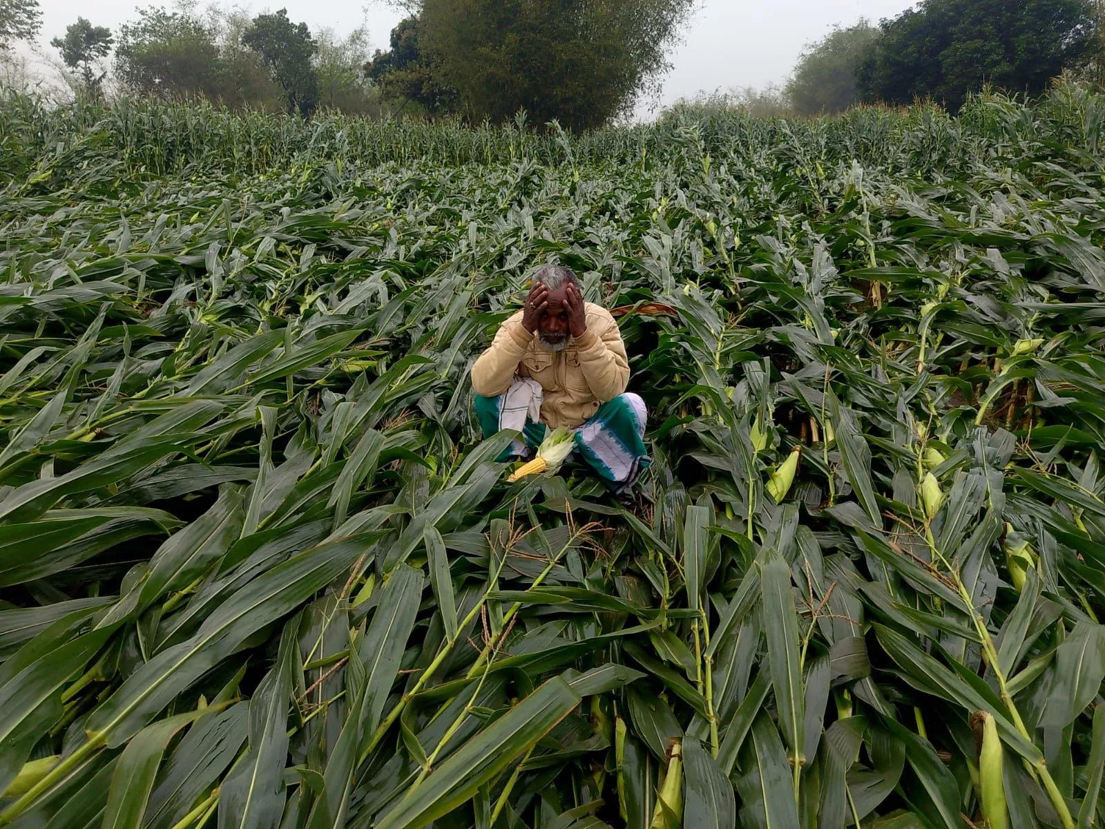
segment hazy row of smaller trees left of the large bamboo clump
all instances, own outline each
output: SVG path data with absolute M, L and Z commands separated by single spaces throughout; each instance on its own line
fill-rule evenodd
M 40 29 L 38 0 L 0 0 L 0 55 Z M 250 17 L 236 8 L 150 6 L 114 32 L 77 18 L 51 45 L 82 95 L 102 95 L 109 75 L 122 94 L 203 97 L 232 109 L 304 117 L 320 106 L 355 115 L 387 109 L 365 72 L 371 49 L 364 27 L 312 32 L 285 9 Z

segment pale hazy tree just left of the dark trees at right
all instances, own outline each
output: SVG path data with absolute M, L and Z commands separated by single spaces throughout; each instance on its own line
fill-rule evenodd
M 798 56 L 787 82 L 787 97 L 799 115 L 842 113 L 860 102 L 855 75 L 878 39 L 880 30 L 866 20 L 836 27 L 809 43 Z

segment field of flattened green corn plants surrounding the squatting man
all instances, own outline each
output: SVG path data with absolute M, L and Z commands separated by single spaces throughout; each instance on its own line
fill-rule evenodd
M 0 111 L 0 826 L 1105 826 L 1105 97 Z M 615 309 L 634 508 L 469 369 Z

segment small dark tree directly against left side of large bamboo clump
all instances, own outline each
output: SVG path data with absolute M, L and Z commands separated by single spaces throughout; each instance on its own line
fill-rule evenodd
M 430 115 L 441 115 L 456 108 L 456 90 L 443 80 L 440 60 L 419 48 L 419 19 L 404 18 L 391 30 L 391 49 L 376 50 L 365 64 L 365 75 L 380 93 L 399 105 L 411 102 Z

